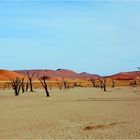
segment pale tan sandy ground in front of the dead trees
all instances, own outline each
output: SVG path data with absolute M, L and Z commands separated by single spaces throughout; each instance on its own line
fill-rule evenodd
M 0 138 L 140 138 L 140 89 L 0 91 Z

